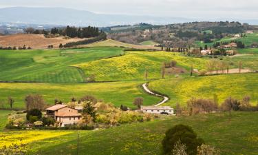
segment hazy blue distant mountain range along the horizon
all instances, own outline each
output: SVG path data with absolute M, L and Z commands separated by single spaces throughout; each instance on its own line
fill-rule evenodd
M 0 23 L 28 23 L 76 26 L 94 25 L 98 27 L 104 27 L 111 25 L 127 25 L 135 23 L 151 23 L 164 25 L 169 23 L 184 23 L 191 21 L 197 20 L 177 17 L 96 14 L 85 10 L 75 10 L 69 8 L 0 8 Z M 241 22 L 258 24 L 258 20 L 246 20 Z

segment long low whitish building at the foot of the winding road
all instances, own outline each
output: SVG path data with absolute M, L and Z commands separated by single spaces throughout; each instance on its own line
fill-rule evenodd
M 151 113 L 151 114 L 174 114 L 174 109 L 165 106 L 165 107 L 155 107 L 155 106 L 142 106 L 140 110 L 144 113 Z

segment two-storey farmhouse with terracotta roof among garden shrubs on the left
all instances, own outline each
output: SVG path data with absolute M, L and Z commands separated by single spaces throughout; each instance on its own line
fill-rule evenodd
M 67 107 L 67 105 L 54 105 L 45 110 L 47 111 L 46 115 L 54 118 L 61 127 L 76 124 L 82 118 L 78 110 Z

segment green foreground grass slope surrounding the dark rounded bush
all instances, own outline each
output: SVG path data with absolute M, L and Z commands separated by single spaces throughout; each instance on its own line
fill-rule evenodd
M 230 121 L 227 113 L 220 113 L 80 131 L 79 154 L 160 154 L 164 133 L 179 123 L 191 125 L 198 136 L 222 154 L 257 154 L 257 121 L 257 112 L 233 112 Z M 30 154 L 76 154 L 76 144 L 77 132 L 73 132 L 35 141 L 30 145 Z

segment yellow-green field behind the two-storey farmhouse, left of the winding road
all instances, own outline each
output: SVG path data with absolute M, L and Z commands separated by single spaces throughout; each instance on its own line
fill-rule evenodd
M 114 83 L 0 83 L 0 101 L 7 104 L 8 96 L 14 99 L 14 107 L 24 108 L 25 96 L 28 94 L 41 94 L 45 101 L 54 104 L 54 99 L 60 99 L 67 103 L 76 97 L 85 95 L 96 96 L 97 99 L 103 99 L 106 103 L 113 103 L 120 107 L 121 104 L 129 107 L 135 107 L 133 99 L 142 97 L 144 105 L 153 105 L 160 101 L 160 98 L 145 93 L 140 86 L 142 81 L 137 82 L 114 82 Z

